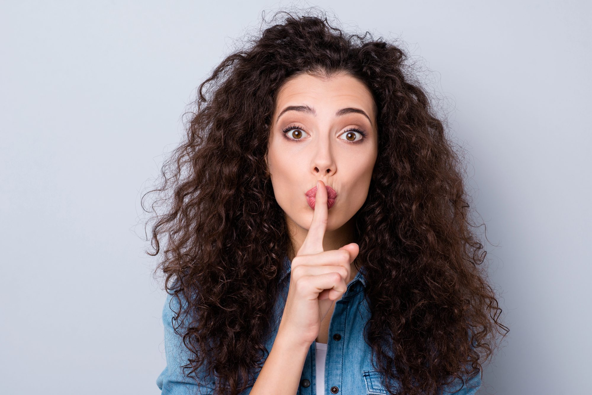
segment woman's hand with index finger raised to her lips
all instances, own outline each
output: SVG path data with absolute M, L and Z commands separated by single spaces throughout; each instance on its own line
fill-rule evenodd
M 317 338 L 321 321 L 334 300 L 347 290 L 350 264 L 358 256 L 355 243 L 339 250 L 323 251 L 323 237 L 327 229 L 327 189 L 317 182 L 313 221 L 307 237 L 292 260 L 288 298 L 279 332 L 305 347 Z

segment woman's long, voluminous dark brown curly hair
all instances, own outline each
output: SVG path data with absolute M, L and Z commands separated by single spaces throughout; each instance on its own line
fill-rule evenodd
M 173 323 L 192 355 L 185 374 L 214 378 L 218 394 L 252 385 L 269 352 L 291 241 L 265 156 L 276 93 L 301 73 L 348 73 L 377 106 L 379 151 L 356 215 L 356 263 L 371 309 L 365 339 L 388 391 L 394 379 L 401 395 L 435 394 L 480 374 L 507 332 L 481 265 L 462 161 L 405 51 L 332 25 L 283 14 L 215 67 L 153 191 L 166 210 L 153 217 L 150 254 L 160 254 L 166 290 L 181 306 Z

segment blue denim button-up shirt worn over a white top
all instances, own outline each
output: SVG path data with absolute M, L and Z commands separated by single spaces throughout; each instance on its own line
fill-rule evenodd
M 289 287 L 289 261 L 281 277 L 282 292 L 276 303 L 275 314 L 281 317 L 284 311 L 285 298 Z M 364 297 L 366 286 L 361 270 L 348 284 L 348 290 L 342 298 L 335 302 L 333 315 L 329 324 L 329 340 L 327 342 L 327 358 L 325 361 L 324 394 L 339 395 L 387 395 L 382 386 L 381 376 L 371 361 L 371 348 L 366 344 L 363 329 L 370 317 L 370 310 Z M 186 351 L 182 337 L 175 334 L 172 326 L 173 311 L 169 307 L 171 296 L 166 300 L 162 319 L 165 325 L 166 368 L 156 380 L 163 395 L 189 395 L 213 393 L 213 382 L 207 381 L 198 387 L 196 381 L 182 373 L 181 366 L 190 357 Z M 172 307 L 175 299 L 172 300 Z M 177 302 L 178 303 L 178 302 Z M 278 319 L 279 322 L 279 319 Z M 266 344 L 268 351 L 274 345 L 278 328 L 275 327 Z M 316 355 L 314 342 L 308 349 L 304 368 L 300 378 L 297 395 L 316 395 Z M 310 384 L 309 384 L 310 383 Z M 393 383 L 397 388 L 397 383 Z M 457 380 L 440 390 L 440 394 L 455 393 L 458 395 L 474 394 L 481 386 L 480 375 L 465 379 L 465 385 Z M 241 395 L 250 393 L 247 388 Z

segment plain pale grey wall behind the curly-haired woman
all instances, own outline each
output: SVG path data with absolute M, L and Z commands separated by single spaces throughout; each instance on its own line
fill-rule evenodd
M 485 390 L 588 393 L 590 2 L 316 4 L 405 40 L 470 154 L 511 328 Z M 0 392 L 159 393 L 139 197 L 195 87 L 270 7 L 2 1 Z

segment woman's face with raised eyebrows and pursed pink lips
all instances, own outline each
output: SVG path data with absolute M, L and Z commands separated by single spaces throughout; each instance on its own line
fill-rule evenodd
M 279 90 L 267 161 L 288 221 L 309 228 L 311 189 L 322 180 L 329 197 L 327 232 L 346 224 L 366 200 L 377 154 L 374 99 L 359 80 L 345 73 L 303 74 Z

